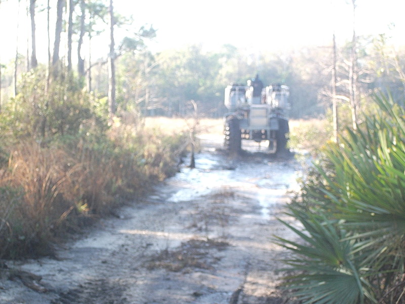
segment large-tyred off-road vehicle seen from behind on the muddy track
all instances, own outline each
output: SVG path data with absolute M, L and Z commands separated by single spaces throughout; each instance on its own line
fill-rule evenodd
M 268 141 L 269 150 L 280 154 L 288 151 L 289 87 L 263 86 L 258 75 L 247 86 L 231 83 L 225 88 L 224 116 L 225 148 L 239 153 L 241 141 Z

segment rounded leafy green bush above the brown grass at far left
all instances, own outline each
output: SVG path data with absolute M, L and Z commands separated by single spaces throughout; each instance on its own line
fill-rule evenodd
M 1 135 L 50 142 L 86 134 L 90 129 L 103 133 L 107 111 L 99 105 L 73 75 L 51 79 L 47 84 L 46 71 L 38 68 L 22 75 L 17 96 L 3 105 Z

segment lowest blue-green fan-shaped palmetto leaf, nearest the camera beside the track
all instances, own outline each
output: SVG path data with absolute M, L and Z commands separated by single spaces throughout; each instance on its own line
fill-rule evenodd
M 284 262 L 296 275 L 286 277 L 286 287 L 293 289 L 293 295 L 304 303 L 363 303 L 364 298 L 374 299 L 366 282 L 362 282 L 358 262 L 353 261 L 351 252 L 354 242 L 343 240 L 347 234 L 339 231 L 339 222 L 315 216 L 301 216 L 292 213 L 304 226 L 304 231 L 280 220 L 304 243 L 277 238 L 278 244 L 294 251 L 297 258 Z M 342 290 L 345 297 L 342 299 Z

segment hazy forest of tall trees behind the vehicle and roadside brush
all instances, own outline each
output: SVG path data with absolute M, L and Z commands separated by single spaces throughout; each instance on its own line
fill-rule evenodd
M 2 7 L 9 9 L 9 2 L 3 0 Z M 121 15 L 118 11 L 113 12 L 111 28 L 110 4 L 107 1 L 71 1 L 68 2 L 70 12 L 62 5 L 63 1 L 13 2 L 19 3 L 18 6 L 14 5 L 18 11 L 3 12 L 19 16 L 10 26 L 15 26 L 15 32 L 23 34 L 16 37 L 17 44 L 15 41 L 7 44 L 16 46 L 13 58 L 1 61 L 2 103 L 18 93 L 17 85 L 27 71 L 31 71 L 38 62 L 40 66 L 47 65 L 47 61 L 52 61 L 52 64 L 63 62 L 83 79 L 83 86 L 86 83 L 86 90 L 97 99 L 108 98 L 109 94 L 111 98 L 111 61 L 107 64 L 108 59 L 113 59 L 115 69 L 114 111 L 117 110 L 118 115 L 128 111 L 143 115 L 184 115 L 186 104 L 194 100 L 201 114 L 222 117 L 225 111 L 225 86 L 231 82 L 246 83 L 256 73 L 265 84 L 290 86 L 290 114 L 295 119 L 325 117 L 332 109 L 333 72 L 336 75 L 334 96 L 338 97 L 337 102 L 343 108 L 355 102 L 357 111 L 363 112 L 368 107 L 370 96 L 380 89 L 390 91 L 393 96 L 402 96 L 403 49 L 395 36 L 390 36 L 389 30 L 387 33 L 356 34 L 357 27 L 361 28 L 360 22 L 354 22 L 356 14 L 360 15 L 356 1 L 344 4 L 347 21 L 340 21 L 337 26 L 351 28 L 346 40 L 342 40 L 342 37 L 339 40 L 338 36 L 338 43 L 334 46 L 334 30 L 325 24 L 325 27 L 331 28 L 328 44 L 300 47 L 297 40 L 295 48 L 284 48 L 282 51 L 280 46 L 291 46 L 296 38 L 282 34 L 269 35 L 263 40 L 274 51 L 263 47 L 261 51 L 259 46 L 263 42 L 259 41 L 258 49 L 254 50 L 252 43 L 251 48 L 225 44 L 217 46 L 215 51 L 208 50 L 204 43 L 197 43 L 155 51 L 154 41 L 159 30 L 148 24 L 134 25 L 139 24 L 134 17 Z M 58 6 L 62 6 L 59 13 Z M 310 6 L 308 10 L 311 10 Z M 136 15 L 142 14 L 137 12 Z M 332 15 L 331 18 L 336 19 Z M 47 19 L 48 28 L 44 22 Z M 38 29 L 35 31 L 38 27 L 39 32 Z M 394 28 L 392 24 L 391 28 Z M 296 30 L 300 32 L 299 28 Z M 291 29 L 279 30 L 281 33 L 283 31 L 288 33 Z M 264 36 L 265 32 L 263 30 Z M 323 31 L 319 29 L 321 34 Z M 214 35 L 211 33 L 211 36 Z M 234 33 L 229 33 L 231 35 Z M 308 36 L 316 36 L 316 32 Z M 103 43 L 100 43 L 100 37 Z M 172 37 L 178 40 L 176 34 L 172 34 Z M 246 34 L 240 33 L 240 40 L 245 39 Z M 227 41 L 226 37 L 223 40 Z M 41 43 L 41 53 L 36 51 L 39 47 L 35 42 L 38 41 Z M 44 48 L 46 43 L 48 52 Z M 10 56 L 11 53 L 8 54 Z

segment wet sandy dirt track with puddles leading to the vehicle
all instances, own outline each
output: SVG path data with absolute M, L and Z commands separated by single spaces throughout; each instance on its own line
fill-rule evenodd
M 252 151 L 229 159 L 222 139 L 201 140 L 196 169 L 101 220 L 59 259 L 7 262 L 41 276 L 43 292 L 3 272 L 0 303 L 288 303 L 276 288 L 286 252 L 272 236 L 289 233 L 276 217 L 299 165 Z

